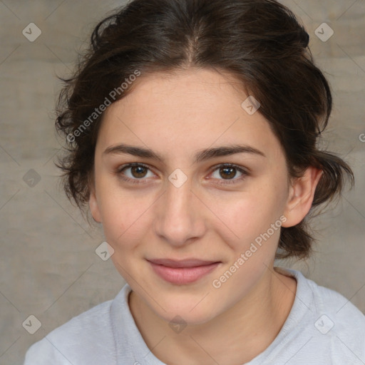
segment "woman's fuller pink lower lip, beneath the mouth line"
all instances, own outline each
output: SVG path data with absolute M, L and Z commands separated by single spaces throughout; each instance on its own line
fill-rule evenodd
M 190 284 L 212 272 L 220 262 L 197 267 L 167 267 L 154 264 L 153 262 L 150 262 L 150 264 L 155 273 L 166 280 L 166 282 L 173 284 Z

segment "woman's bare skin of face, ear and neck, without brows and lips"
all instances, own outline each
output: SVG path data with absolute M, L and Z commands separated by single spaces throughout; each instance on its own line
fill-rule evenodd
M 91 213 L 132 288 L 135 323 L 166 364 L 250 361 L 272 343 L 294 302 L 295 279 L 274 269 L 279 230 L 219 289 L 212 286 L 279 217 L 286 217 L 282 227 L 302 221 L 321 175 L 310 167 L 289 179 L 279 140 L 259 110 L 249 115 L 241 107 L 246 98 L 232 76 L 214 70 L 142 75 L 128 96 L 108 107 L 99 131 Z M 150 148 L 164 162 L 104 153 L 120 143 Z M 199 150 L 232 144 L 265 156 L 237 153 L 194 163 Z M 128 163 L 148 169 L 120 171 Z M 222 163 L 247 175 L 225 173 L 216 167 Z M 168 179 L 176 169 L 187 177 L 180 187 Z M 221 263 L 197 282 L 178 285 L 146 261 L 191 257 Z M 187 324 L 180 333 L 169 326 L 177 315 Z

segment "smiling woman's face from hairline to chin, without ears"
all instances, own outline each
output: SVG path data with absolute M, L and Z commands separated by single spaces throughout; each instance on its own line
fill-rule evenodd
M 136 82 L 104 115 L 91 212 L 116 269 L 155 314 L 204 323 L 272 266 L 289 195 L 284 153 L 228 75 Z

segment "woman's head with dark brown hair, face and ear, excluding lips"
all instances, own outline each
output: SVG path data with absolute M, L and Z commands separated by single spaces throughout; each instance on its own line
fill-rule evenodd
M 134 0 L 65 80 L 66 193 L 160 317 L 206 322 L 276 257 L 308 257 L 309 215 L 352 181 L 317 148 L 332 101 L 308 43 L 274 0 Z M 150 264 L 161 258 L 218 264 L 172 284 Z

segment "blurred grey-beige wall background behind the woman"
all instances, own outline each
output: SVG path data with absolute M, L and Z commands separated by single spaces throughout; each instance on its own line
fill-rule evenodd
M 303 21 L 317 64 L 326 72 L 334 111 L 324 145 L 354 168 L 356 187 L 316 222 L 317 253 L 284 262 L 343 294 L 365 312 L 364 153 L 365 1 L 282 1 Z M 0 0 L 0 363 L 22 364 L 26 349 L 49 331 L 113 299 L 124 281 L 96 255 L 100 227 L 89 227 L 58 186 L 59 144 L 53 108 L 76 51 L 93 26 L 123 1 Z M 34 22 L 41 36 L 22 31 Z M 326 22 L 328 41 L 314 31 Z M 364 136 L 365 140 L 365 136 Z M 34 186 L 24 175 L 34 169 Z M 26 175 L 36 178 L 34 172 Z M 33 314 L 35 334 L 22 323 Z

